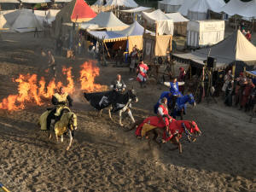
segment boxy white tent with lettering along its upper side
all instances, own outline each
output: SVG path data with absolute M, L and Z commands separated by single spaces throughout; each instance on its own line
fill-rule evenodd
M 189 20 L 187 45 L 192 48 L 217 44 L 224 39 L 224 20 Z

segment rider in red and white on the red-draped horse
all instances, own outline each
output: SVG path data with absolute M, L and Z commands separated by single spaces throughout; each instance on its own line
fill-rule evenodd
M 164 124 L 166 125 L 166 136 L 171 137 L 172 133 L 169 130 L 169 123 L 172 122 L 172 117 L 168 113 L 166 97 L 162 98 L 162 100 L 161 100 L 160 106 L 158 108 L 158 115 L 160 116 L 160 119 L 163 120 Z

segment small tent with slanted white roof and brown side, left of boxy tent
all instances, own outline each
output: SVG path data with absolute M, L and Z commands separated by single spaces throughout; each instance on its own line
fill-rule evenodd
M 174 33 L 186 36 L 187 35 L 187 25 L 188 25 L 188 19 L 183 17 L 180 13 L 172 13 L 172 14 L 166 14 L 167 17 L 170 18 L 170 20 L 173 20 L 174 23 Z

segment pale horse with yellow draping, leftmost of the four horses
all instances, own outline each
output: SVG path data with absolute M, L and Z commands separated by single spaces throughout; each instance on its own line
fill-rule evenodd
M 41 131 L 49 131 L 46 128 L 46 119 L 49 113 L 50 113 L 50 110 L 47 110 L 39 118 L 38 124 L 41 126 Z M 64 111 L 63 113 L 61 113 L 61 119 L 55 122 L 54 130 L 55 130 L 55 137 L 57 142 L 59 141 L 58 137 L 61 137 L 61 143 L 63 143 L 63 134 L 66 134 L 68 132 L 70 140 L 67 146 L 67 150 L 69 150 L 69 148 L 72 145 L 74 131 L 78 129 L 77 125 L 78 125 L 77 115 L 70 111 Z M 51 138 L 51 134 L 49 132 L 49 139 L 50 138 Z

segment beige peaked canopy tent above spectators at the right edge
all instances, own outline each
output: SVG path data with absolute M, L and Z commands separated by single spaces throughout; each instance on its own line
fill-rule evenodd
M 199 67 L 203 67 L 203 61 L 207 60 L 210 50 L 210 56 L 216 58 L 216 68 L 224 68 L 235 62 L 236 72 L 241 72 L 244 66 L 250 68 L 256 64 L 256 47 L 239 30 L 210 48 L 198 49 L 188 54 L 172 55 L 177 60 L 192 61 L 197 63 Z

